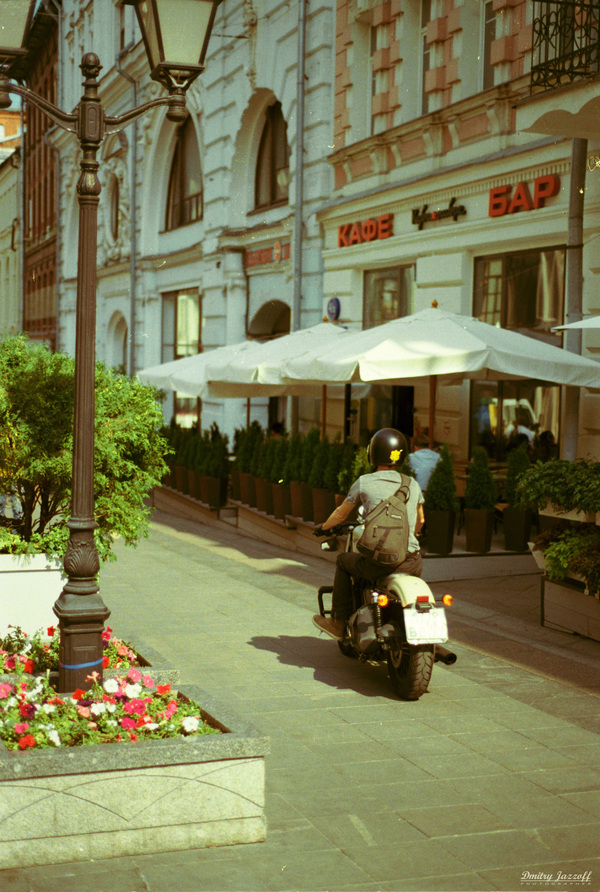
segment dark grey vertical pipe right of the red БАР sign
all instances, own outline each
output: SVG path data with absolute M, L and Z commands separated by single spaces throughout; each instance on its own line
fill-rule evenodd
M 574 139 L 571 149 L 571 179 L 569 185 L 569 223 L 567 231 L 567 263 L 565 323 L 579 322 L 582 317 L 583 289 L 583 207 L 585 198 L 585 171 L 587 165 L 587 140 Z M 564 332 L 564 346 L 572 353 L 581 354 L 581 329 Z M 579 387 L 565 387 L 562 458 L 577 458 L 579 431 Z

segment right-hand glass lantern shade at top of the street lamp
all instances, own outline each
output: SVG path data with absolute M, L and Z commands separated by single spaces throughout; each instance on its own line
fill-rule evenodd
M 1 2 L 1 0 L 0 0 Z M 135 6 L 151 76 L 187 89 L 204 70 L 221 0 L 128 0 Z

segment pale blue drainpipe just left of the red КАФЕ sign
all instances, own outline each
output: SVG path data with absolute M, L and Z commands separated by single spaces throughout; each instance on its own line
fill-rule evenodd
M 294 294 L 291 330 L 298 331 L 302 305 L 302 219 L 304 216 L 304 78 L 306 57 L 306 6 L 298 4 L 298 61 L 296 65 L 296 202 L 294 209 Z M 290 429 L 298 430 L 298 397 L 291 398 Z

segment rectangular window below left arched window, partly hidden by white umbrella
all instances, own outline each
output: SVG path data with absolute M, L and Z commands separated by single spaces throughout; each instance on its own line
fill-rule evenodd
M 162 301 L 162 362 L 202 352 L 202 299 L 197 288 L 170 291 Z M 169 408 L 170 403 L 170 408 Z M 177 424 L 190 427 L 199 420 L 200 401 L 169 394 L 165 409 Z

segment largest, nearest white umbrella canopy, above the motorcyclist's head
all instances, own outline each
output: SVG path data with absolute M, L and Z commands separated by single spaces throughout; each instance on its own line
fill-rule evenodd
M 600 386 L 600 364 L 470 316 L 429 308 L 287 358 L 284 380 L 404 383 L 439 376 Z

